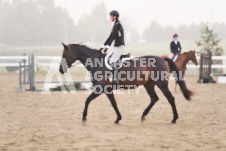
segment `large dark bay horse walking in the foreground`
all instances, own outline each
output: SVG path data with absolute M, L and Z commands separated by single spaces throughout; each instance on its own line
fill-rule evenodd
M 87 65 L 87 60 L 94 61 L 97 58 L 101 60 L 105 58 L 106 56 L 105 54 L 102 54 L 95 49 L 90 49 L 84 45 L 79 45 L 79 44 L 69 44 L 69 45 L 63 44 L 63 46 L 64 46 L 64 51 L 62 54 L 61 65 L 59 67 L 59 71 L 62 74 L 65 73 L 67 69 L 71 67 L 72 63 L 74 63 L 76 60 L 79 60 L 85 66 L 85 68 L 88 71 L 90 71 L 91 77 L 95 77 L 95 74 L 97 72 L 101 72 L 101 75 L 105 75 L 104 77 L 108 76 L 105 73 L 112 72 L 106 67 L 105 63 L 103 66 L 101 65 L 92 66 L 91 64 Z M 154 65 L 152 64 L 151 66 L 149 66 L 148 61 L 146 62 L 144 61 L 149 59 L 155 60 Z M 63 63 L 63 60 L 66 60 L 66 63 Z M 168 75 L 158 74 L 159 72 L 169 73 L 169 72 L 175 71 L 176 75 L 179 75 L 179 71 L 176 65 L 174 64 L 174 62 L 171 59 L 167 59 L 167 58 L 163 59 L 157 56 L 143 56 L 136 59 L 127 60 L 126 62 L 123 63 L 123 65 L 126 63 L 130 65 L 122 66 L 119 69 L 119 72 L 123 72 L 123 74 L 121 74 L 121 78 L 119 78 L 120 83 L 118 85 L 121 86 L 120 89 L 124 89 L 124 88 L 126 89 L 128 88 L 126 87 L 128 85 L 133 85 L 133 86 L 144 85 L 147 93 L 151 98 L 151 102 L 148 105 L 148 107 L 144 110 L 141 116 L 141 120 L 142 121 L 145 120 L 145 116 L 151 110 L 153 105 L 159 100 L 155 92 L 155 85 L 156 85 L 157 87 L 160 88 L 160 90 L 163 92 L 165 97 L 168 99 L 168 102 L 172 107 L 173 115 L 174 115 L 172 123 L 176 123 L 176 120 L 178 119 L 178 114 L 177 114 L 174 97 L 168 88 Z M 132 72 L 132 73 L 135 72 L 135 74 L 131 74 L 128 72 Z M 145 74 L 144 72 L 148 74 Z M 138 77 L 138 74 L 136 73 L 140 73 L 139 77 Z M 156 78 L 157 75 L 159 75 L 158 78 Z M 131 80 L 130 78 L 128 78 L 128 76 L 130 78 L 132 77 L 133 79 Z M 122 117 L 118 110 L 117 103 L 115 101 L 114 94 L 113 94 L 113 89 L 118 89 L 118 87 L 115 88 L 113 86 L 118 86 L 118 85 L 116 85 L 114 82 L 111 82 L 109 78 L 102 78 L 102 79 L 92 78 L 91 81 L 94 86 L 93 88 L 94 91 L 90 94 L 90 96 L 87 98 L 85 102 L 85 108 L 84 108 L 83 117 L 82 117 L 83 122 L 87 121 L 86 116 L 87 116 L 89 103 L 93 99 L 97 98 L 99 95 L 105 93 L 117 114 L 117 119 L 115 123 L 118 124 L 119 121 L 122 119 Z M 184 97 L 187 100 L 190 100 L 192 92 L 187 89 L 185 82 L 181 79 L 178 79 L 177 83 L 179 84 Z

